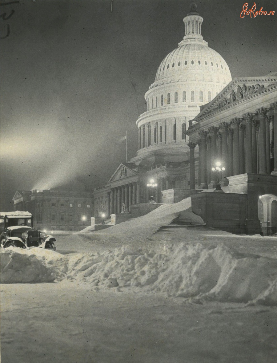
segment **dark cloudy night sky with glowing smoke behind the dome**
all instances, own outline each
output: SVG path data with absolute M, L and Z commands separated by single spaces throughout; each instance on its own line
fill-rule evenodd
M 276 1 L 257 9 L 276 11 Z M 7 1 L 2 1 L 7 2 Z M 184 36 L 189 0 L 25 0 L 0 6 L 1 210 L 16 189 L 92 191 L 107 183 L 128 135 L 136 155 L 144 94 Z M 277 70 L 277 16 L 240 19 L 244 1 L 197 1 L 202 35 L 232 77 Z M 249 2 L 252 7 L 253 2 Z

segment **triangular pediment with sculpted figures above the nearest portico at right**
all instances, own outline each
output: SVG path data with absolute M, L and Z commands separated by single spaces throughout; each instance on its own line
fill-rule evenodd
M 241 101 L 247 101 L 266 91 L 268 87 L 276 84 L 276 76 L 234 78 L 216 97 L 209 103 L 200 107 L 200 113 L 194 118 L 201 121 L 203 117 L 223 110 Z

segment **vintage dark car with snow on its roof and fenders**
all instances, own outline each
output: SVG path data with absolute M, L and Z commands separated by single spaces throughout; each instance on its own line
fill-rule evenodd
M 56 250 L 56 239 L 50 234 L 33 228 L 29 212 L 0 212 L 1 247 L 41 247 Z

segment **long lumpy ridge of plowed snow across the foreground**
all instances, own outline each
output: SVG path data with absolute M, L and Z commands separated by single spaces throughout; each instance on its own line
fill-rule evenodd
M 68 279 L 99 288 L 162 291 L 170 296 L 277 305 L 277 259 L 179 244 L 155 253 L 123 246 L 101 254 L 1 250 L 1 282 Z

